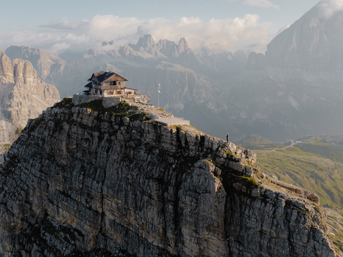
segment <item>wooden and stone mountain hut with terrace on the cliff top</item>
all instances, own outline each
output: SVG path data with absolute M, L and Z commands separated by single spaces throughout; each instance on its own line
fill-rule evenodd
M 128 79 L 115 72 L 94 72 L 88 79 L 88 84 L 84 87 L 84 95 L 95 95 L 103 97 L 121 97 L 134 101 L 147 103 L 150 101 L 150 95 L 138 93 L 139 89 L 126 87 Z

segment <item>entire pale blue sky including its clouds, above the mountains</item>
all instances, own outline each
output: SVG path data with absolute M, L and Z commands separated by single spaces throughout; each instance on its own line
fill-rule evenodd
M 192 48 L 201 42 L 215 47 L 217 40 L 218 48 L 229 51 L 257 45 L 257 51 L 263 52 L 280 28 L 292 24 L 317 3 L 318 0 L 6 1 L 1 3 L 0 49 L 29 45 L 58 54 L 68 48 L 85 51 L 102 40 L 115 40 L 118 45 L 135 43 L 149 33 L 156 41 L 160 37 L 174 41 L 185 37 Z M 214 30 L 218 31 L 212 33 Z M 202 31 L 205 35 L 198 37 Z

